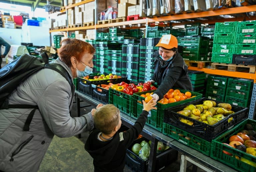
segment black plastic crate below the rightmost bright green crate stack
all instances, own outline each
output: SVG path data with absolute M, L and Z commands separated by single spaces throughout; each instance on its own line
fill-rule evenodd
M 233 64 L 256 65 L 256 55 L 233 54 Z

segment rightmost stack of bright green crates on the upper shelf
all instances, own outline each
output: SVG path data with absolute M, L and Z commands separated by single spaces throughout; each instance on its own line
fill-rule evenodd
M 234 54 L 237 55 L 256 55 L 256 21 L 245 21 L 237 23 L 236 41 L 234 45 Z M 241 59 L 240 57 L 239 59 Z M 238 59 L 238 57 L 236 57 Z M 241 62 L 242 60 L 240 60 Z M 235 60 L 233 61 L 235 62 Z M 237 63 L 236 63 L 237 64 Z M 246 63 L 256 65 L 253 58 Z

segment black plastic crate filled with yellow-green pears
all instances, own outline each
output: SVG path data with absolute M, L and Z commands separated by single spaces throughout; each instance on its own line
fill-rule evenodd
M 164 123 L 167 123 L 169 125 L 173 125 L 175 127 L 178 127 L 182 130 L 185 130 L 186 132 L 189 132 L 191 134 L 194 134 L 196 136 L 201 137 L 202 139 L 205 139 L 207 141 L 211 141 L 221 133 L 227 131 L 228 129 L 234 127 L 236 124 L 241 122 L 242 120 L 247 118 L 247 111 L 248 108 L 239 107 L 232 105 L 232 110 L 235 112 L 231 115 L 228 115 L 221 121 L 215 123 L 214 125 L 208 125 L 206 123 L 203 123 L 201 121 L 194 120 L 190 117 L 186 117 L 184 115 L 178 114 L 178 111 L 183 110 L 186 106 L 189 104 L 203 104 L 204 100 L 210 100 L 207 98 L 202 98 L 199 100 L 195 100 L 194 102 L 189 102 L 183 105 L 180 105 L 178 107 L 174 108 L 167 108 L 164 111 Z M 215 101 L 218 103 L 223 103 L 220 101 Z M 228 119 L 233 117 L 233 120 L 228 122 Z M 179 118 L 183 118 L 189 121 L 193 122 L 193 125 L 188 125 L 186 123 L 183 123 L 179 120 Z

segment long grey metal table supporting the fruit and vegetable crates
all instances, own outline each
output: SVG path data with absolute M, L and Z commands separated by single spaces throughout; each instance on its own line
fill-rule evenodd
M 76 93 L 76 102 L 77 102 L 77 116 L 80 116 L 80 99 L 94 104 L 97 106 L 99 101 L 84 95 L 83 93 L 80 93 L 79 91 L 75 91 Z M 134 118 L 131 118 L 130 116 L 120 112 L 122 124 L 131 127 L 134 125 L 136 120 Z M 156 162 L 156 150 L 157 150 L 157 142 L 161 141 L 164 144 L 169 145 L 171 148 L 179 151 L 182 153 L 181 156 L 181 166 L 180 166 L 180 172 L 186 171 L 186 163 L 187 161 L 191 162 L 192 164 L 202 168 L 205 171 L 215 171 L 215 172 L 234 172 L 235 170 L 218 162 L 210 157 L 182 144 L 178 141 L 164 135 L 163 133 L 159 132 L 158 130 L 155 130 L 147 125 L 144 126 L 143 131 L 141 133 L 145 138 L 151 140 L 151 148 L 150 149 L 150 157 L 149 157 L 149 164 L 148 164 L 148 172 L 155 171 L 155 162 Z

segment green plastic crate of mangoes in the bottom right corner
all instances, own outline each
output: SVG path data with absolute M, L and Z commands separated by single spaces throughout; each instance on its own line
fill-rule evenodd
M 234 128 L 229 129 L 225 133 L 221 134 L 220 136 L 218 136 L 214 140 L 212 140 L 211 158 L 215 159 L 217 161 L 220 161 L 223 164 L 226 164 L 227 166 L 234 168 L 235 170 L 239 170 L 242 172 L 256 171 L 255 167 L 253 167 L 245 162 L 242 162 L 242 161 L 236 159 L 236 157 L 235 157 L 235 155 L 236 155 L 239 158 L 243 157 L 245 159 L 248 159 L 248 160 L 256 163 L 255 156 L 222 144 L 222 143 L 228 143 L 229 137 L 232 135 L 236 135 L 238 132 L 242 131 L 245 128 L 246 124 L 251 124 L 253 126 L 254 130 L 256 130 L 256 121 L 246 119 L 246 120 L 242 121 L 241 123 L 239 123 L 238 125 L 234 126 Z M 223 153 L 223 150 L 231 153 L 233 156 Z

